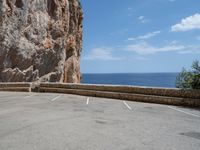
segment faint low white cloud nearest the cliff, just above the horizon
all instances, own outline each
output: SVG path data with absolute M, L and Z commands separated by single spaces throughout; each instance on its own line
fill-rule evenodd
M 86 60 L 122 60 L 122 57 L 115 57 L 112 54 L 112 49 L 110 48 L 94 48 L 91 50 Z

